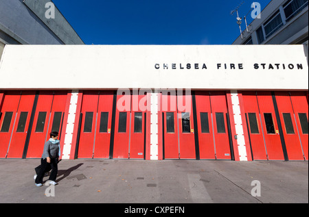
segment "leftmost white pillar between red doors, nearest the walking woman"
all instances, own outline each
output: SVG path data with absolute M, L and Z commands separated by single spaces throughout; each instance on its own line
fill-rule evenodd
M 65 130 L 65 142 L 63 144 L 63 150 L 62 150 L 62 159 L 70 158 L 77 103 L 78 103 L 78 90 L 72 90 L 69 105 L 69 114 L 67 116 L 67 127 Z

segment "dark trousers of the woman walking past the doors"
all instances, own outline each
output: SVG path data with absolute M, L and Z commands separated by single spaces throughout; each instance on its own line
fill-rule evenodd
M 38 172 L 36 173 L 36 183 L 42 183 L 44 174 L 46 170 L 52 168 L 52 172 L 49 175 L 49 180 L 56 181 L 57 173 L 58 173 L 58 164 L 56 158 L 51 158 L 50 163 L 47 163 L 47 159 L 41 158 L 41 168 L 39 168 Z M 48 171 L 47 170 L 47 171 Z

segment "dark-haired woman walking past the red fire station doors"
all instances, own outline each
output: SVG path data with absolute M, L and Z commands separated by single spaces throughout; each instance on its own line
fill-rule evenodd
M 46 170 L 52 168 L 49 175 L 49 183 L 56 186 L 56 177 L 58 173 L 58 159 L 60 157 L 60 140 L 58 140 L 58 132 L 52 131 L 49 133 L 49 140 L 44 144 L 43 154 L 41 157 L 41 167 L 35 177 L 36 186 L 43 186 L 43 177 Z

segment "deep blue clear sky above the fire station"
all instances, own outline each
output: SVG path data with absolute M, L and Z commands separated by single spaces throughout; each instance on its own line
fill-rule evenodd
M 258 2 L 263 9 L 270 1 Z M 243 2 L 238 12 L 244 17 L 253 0 L 53 2 L 85 44 L 231 44 L 240 35 L 231 11 Z

